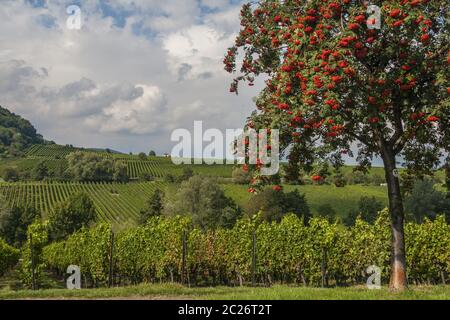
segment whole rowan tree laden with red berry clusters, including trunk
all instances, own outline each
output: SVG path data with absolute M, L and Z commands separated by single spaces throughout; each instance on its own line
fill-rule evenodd
M 430 172 L 450 149 L 448 9 L 446 0 L 261 0 L 243 6 L 224 60 L 239 73 L 231 92 L 266 79 L 247 126 L 279 129 L 282 150 L 300 146 L 302 163 L 338 167 L 355 149 L 362 169 L 383 159 L 397 290 L 407 285 L 398 161 Z

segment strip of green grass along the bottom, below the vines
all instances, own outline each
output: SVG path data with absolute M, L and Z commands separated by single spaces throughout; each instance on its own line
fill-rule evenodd
M 186 288 L 180 285 L 140 285 L 111 289 L 0 291 L 0 299 L 192 299 L 192 300 L 449 300 L 450 286 L 412 287 L 403 293 L 384 288 Z

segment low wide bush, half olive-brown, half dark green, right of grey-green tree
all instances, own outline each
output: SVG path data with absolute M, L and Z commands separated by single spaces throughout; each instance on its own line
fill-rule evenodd
M 304 195 L 301 195 L 298 190 L 284 193 L 276 187 L 266 187 L 252 196 L 244 209 L 248 216 L 261 212 L 262 218 L 266 221 L 280 221 L 288 213 L 303 217 L 306 222 L 311 217 Z

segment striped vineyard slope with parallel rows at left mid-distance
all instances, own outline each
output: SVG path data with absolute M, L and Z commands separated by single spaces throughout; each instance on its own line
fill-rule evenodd
M 147 199 L 163 182 L 145 183 L 72 183 L 72 182 L 28 182 L 0 183 L 2 193 L 10 206 L 31 204 L 44 217 L 54 210 L 57 203 L 71 194 L 86 192 L 93 200 L 101 221 L 111 222 L 117 227 L 133 225 Z

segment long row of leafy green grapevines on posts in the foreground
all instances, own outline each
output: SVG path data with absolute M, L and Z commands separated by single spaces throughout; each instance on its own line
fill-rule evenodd
M 45 226 L 30 230 L 36 232 L 33 239 L 46 239 Z M 354 285 L 365 283 L 365 270 L 371 265 L 381 268 L 386 283 L 389 230 L 387 210 L 373 225 L 358 219 L 349 228 L 324 218 L 312 218 L 306 224 L 288 215 L 280 223 L 255 216 L 240 219 L 229 229 L 204 230 L 193 227 L 189 217 L 153 217 L 144 226 L 116 234 L 114 241 L 111 227 L 104 224 L 83 228 L 48 246 L 40 241 L 33 258 L 38 279 L 43 270 L 63 277 L 67 267 L 75 264 L 81 267 L 85 287 L 108 283 L 110 261 L 115 285 L 182 279 L 191 285 L 244 285 L 253 276 L 261 285 Z M 408 223 L 406 241 L 411 284 L 448 281 L 450 226 L 443 216 L 423 224 Z M 29 265 L 31 257 L 22 258 L 22 264 Z

